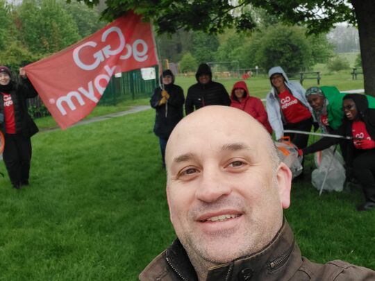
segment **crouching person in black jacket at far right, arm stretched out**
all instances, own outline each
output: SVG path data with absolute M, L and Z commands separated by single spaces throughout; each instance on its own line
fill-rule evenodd
M 375 109 L 369 108 L 369 102 L 363 94 L 346 94 L 342 101 L 344 119 L 342 125 L 333 130 L 334 135 L 351 137 L 345 145 L 347 173 L 353 171 L 363 187 L 365 203 L 357 207 L 358 211 L 375 208 Z M 315 144 L 303 148 L 300 154 L 307 155 L 338 144 L 341 139 L 323 137 Z

